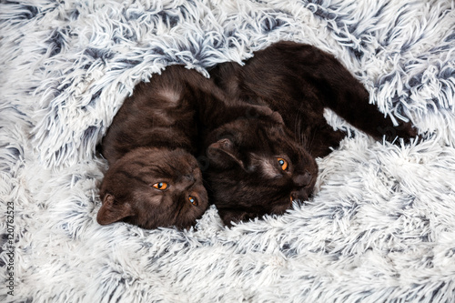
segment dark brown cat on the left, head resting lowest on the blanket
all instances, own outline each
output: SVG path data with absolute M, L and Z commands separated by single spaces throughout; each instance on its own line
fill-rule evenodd
M 207 191 L 191 154 L 201 134 L 239 116 L 282 124 L 268 107 L 227 100 L 212 81 L 184 66 L 167 66 L 137 85 L 102 142 L 109 169 L 100 188 L 98 223 L 145 228 L 196 223 L 207 209 Z

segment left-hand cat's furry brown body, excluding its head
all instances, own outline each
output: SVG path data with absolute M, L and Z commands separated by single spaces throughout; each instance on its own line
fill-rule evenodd
M 167 66 L 148 83 L 139 83 L 114 117 L 102 143 L 109 164 L 138 146 L 183 148 L 190 153 L 207 127 L 238 117 L 272 115 L 226 94 L 212 81 L 184 66 Z M 279 116 L 279 115 L 278 115 Z

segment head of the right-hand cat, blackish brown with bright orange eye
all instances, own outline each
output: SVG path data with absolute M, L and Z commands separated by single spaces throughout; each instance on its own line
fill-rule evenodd
M 207 188 L 226 225 L 308 200 L 318 166 L 294 137 L 283 123 L 263 118 L 240 118 L 207 136 Z

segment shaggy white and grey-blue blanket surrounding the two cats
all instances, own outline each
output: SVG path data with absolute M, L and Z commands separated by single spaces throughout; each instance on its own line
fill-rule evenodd
M 447 0 L 34 0 L 0 4 L 2 302 L 455 301 L 455 4 Z M 171 64 L 207 74 L 278 40 L 337 56 L 420 139 L 356 136 L 317 194 L 227 228 L 101 227 L 96 144 Z

